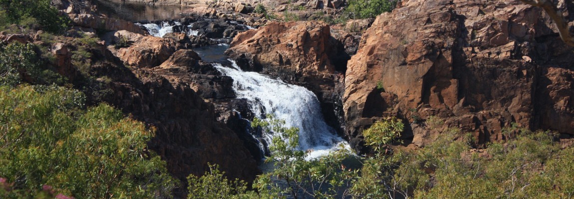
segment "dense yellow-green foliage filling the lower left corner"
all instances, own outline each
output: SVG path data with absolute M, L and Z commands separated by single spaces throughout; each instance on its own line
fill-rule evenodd
M 83 93 L 57 86 L 0 87 L 0 177 L 7 198 L 32 198 L 42 185 L 77 198 L 169 197 L 174 180 L 149 151 L 141 122 Z

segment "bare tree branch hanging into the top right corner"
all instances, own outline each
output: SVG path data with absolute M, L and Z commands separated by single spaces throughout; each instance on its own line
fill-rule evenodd
M 541 7 L 546 11 L 546 14 L 552 18 L 554 24 L 556 24 L 556 28 L 558 29 L 558 33 L 560 34 L 560 38 L 569 46 L 574 46 L 574 37 L 572 36 L 570 30 L 568 29 L 568 21 L 564 19 L 562 15 L 562 11 L 560 11 L 554 3 L 549 0 L 520 0 L 522 3 Z

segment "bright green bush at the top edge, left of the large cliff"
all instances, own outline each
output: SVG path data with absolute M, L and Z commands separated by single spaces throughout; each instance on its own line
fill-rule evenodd
M 393 11 L 398 0 L 349 0 L 346 11 L 353 18 L 374 18 L 381 13 Z

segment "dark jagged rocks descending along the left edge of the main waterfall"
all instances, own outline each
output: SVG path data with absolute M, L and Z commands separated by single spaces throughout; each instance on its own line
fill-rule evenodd
M 259 143 L 250 134 L 253 112 L 246 99 L 236 99 L 233 80 L 222 75 L 213 65 L 203 63 L 193 50 L 177 50 L 154 73 L 165 76 L 172 84 L 189 84 L 189 87 L 204 100 L 215 105 L 217 120 L 227 125 L 243 141 L 256 161 L 264 158 Z M 181 74 L 174 76 L 173 73 Z M 243 119 L 245 118 L 245 119 Z M 267 154 L 269 155 L 269 154 Z

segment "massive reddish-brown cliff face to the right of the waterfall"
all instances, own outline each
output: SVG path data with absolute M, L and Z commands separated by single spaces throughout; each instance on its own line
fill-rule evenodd
M 519 1 L 402 1 L 349 61 L 347 135 L 360 146 L 362 130 L 390 115 L 412 124 L 418 146 L 436 136 L 413 123 L 431 115 L 479 144 L 511 123 L 574 134 L 574 54 L 556 36 L 542 10 Z

